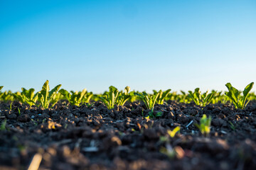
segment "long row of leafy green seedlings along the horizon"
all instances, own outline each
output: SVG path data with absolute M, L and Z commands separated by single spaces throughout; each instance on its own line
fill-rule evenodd
M 155 91 L 152 94 L 147 94 L 145 91 L 130 91 L 130 87 L 125 87 L 124 91 L 119 91 L 114 86 L 109 87 L 109 91 L 103 94 L 92 94 L 86 89 L 82 91 L 66 91 L 60 89 L 61 84 L 50 90 L 48 80 L 43 84 L 41 91 L 35 93 L 35 89 L 21 88 L 21 91 L 12 93 L 11 91 L 3 91 L 0 86 L 0 101 L 20 101 L 31 106 L 41 106 L 43 108 L 53 107 L 55 103 L 68 101 L 67 105 L 80 106 L 81 104 L 90 104 L 94 101 L 102 101 L 107 108 L 112 109 L 114 106 L 123 106 L 127 101 L 143 101 L 146 108 L 153 111 L 155 103 L 164 104 L 166 101 L 177 101 L 179 103 L 195 103 L 198 106 L 206 106 L 208 103 L 228 103 L 232 102 L 235 108 L 245 108 L 250 100 L 256 100 L 256 95 L 250 93 L 253 82 L 248 84 L 244 91 L 238 91 L 230 83 L 225 84 L 228 91 L 206 91 L 201 93 L 199 88 L 194 91 L 181 91 L 178 94 L 176 91 L 171 92 L 171 89 L 166 91 Z

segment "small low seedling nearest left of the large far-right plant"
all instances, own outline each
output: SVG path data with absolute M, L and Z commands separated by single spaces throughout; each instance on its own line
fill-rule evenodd
M 214 94 L 208 94 L 208 91 L 201 95 L 199 88 L 196 88 L 194 92 L 188 91 L 188 96 L 199 106 L 206 106 L 213 99 Z

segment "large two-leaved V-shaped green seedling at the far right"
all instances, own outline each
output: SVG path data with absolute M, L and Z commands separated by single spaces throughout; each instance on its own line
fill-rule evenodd
M 228 88 L 228 92 L 225 93 L 226 96 L 228 96 L 230 98 L 230 100 L 233 102 L 235 108 L 241 108 L 244 109 L 245 106 L 247 106 L 247 103 L 249 103 L 249 101 L 247 101 L 246 103 L 246 98 L 250 92 L 250 90 L 252 89 L 253 86 L 253 82 L 248 84 L 244 91 L 242 91 L 243 96 L 240 97 L 240 92 L 238 91 L 238 89 L 235 89 L 235 87 L 233 87 L 230 83 L 225 84 L 225 86 Z

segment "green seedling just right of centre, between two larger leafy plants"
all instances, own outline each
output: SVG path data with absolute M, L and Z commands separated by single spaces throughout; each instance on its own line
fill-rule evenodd
M 154 105 L 156 103 L 156 100 L 159 96 L 159 93 L 157 94 L 153 94 L 153 95 L 149 95 L 146 94 L 145 91 L 143 91 L 142 93 L 134 93 L 135 95 L 139 96 L 139 98 L 142 99 L 142 101 L 145 103 L 146 108 L 150 109 L 150 110 L 154 110 Z

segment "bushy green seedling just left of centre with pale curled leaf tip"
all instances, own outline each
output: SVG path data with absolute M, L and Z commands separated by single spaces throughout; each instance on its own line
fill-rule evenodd
M 110 91 L 105 92 L 103 96 L 100 96 L 100 99 L 105 103 L 107 108 L 112 109 L 114 105 L 123 106 L 124 103 L 133 96 L 133 92 L 128 94 L 130 87 L 127 86 L 124 89 L 124 93 L 119 92 L 114 86 L 109 87 Z

